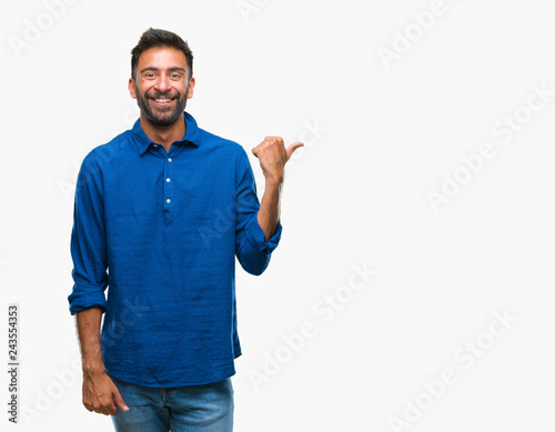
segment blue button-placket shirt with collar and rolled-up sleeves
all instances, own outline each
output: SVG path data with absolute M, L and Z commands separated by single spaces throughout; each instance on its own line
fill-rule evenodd
M 244 149 L 184 121 L 167 152 L 138 120 L 84 158 L 75 189 L 70 312 L 102 308 L 105 370 L 144 386 L 235 373 L 235 257 L 261 274 L 282 230 L 265 241 Z

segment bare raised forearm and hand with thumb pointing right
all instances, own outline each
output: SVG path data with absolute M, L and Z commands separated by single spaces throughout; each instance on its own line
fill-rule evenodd
M 266 241 L 275 234 L 280 221 L 281 191 L 285 175 L 285 163 L 287 163 L 293 152 L 302 145 L 304 145 L 302 142 L 294 142 L 285 149 L 283 139 L 266 137 L 264 141 L 252 149 L 252 153 L 259 158 L 265 179 L 264 194 L 256 218 L 260 228 L 264 231 Z

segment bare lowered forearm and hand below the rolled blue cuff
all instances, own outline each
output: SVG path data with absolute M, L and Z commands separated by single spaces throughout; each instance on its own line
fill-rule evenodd
M 118 388 L 104 371 L 100 346 L 102 309 L 85 309 L 77 313 L 75 320 L 83 366 L 83 405 L 89 411 L 104 415 L 115 415 L 118 408 L 129 411 Z

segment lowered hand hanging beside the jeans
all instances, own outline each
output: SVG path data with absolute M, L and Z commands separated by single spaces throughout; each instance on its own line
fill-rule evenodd
M 83 373 L 83 405 L 91 412 L 104 415 L 115 415 L 118 408 L 129 411 L 120 391 L 105 372 Z

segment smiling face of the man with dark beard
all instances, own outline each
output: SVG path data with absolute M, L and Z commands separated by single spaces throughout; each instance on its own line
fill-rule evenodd
M 165 127 L 181 118 L 186 100 L 193 97 L 194 78 L 188 80 L 185 54 L 172 48 L 151 48 L 139 57 L 131 97 L 141 113 L 155 125 Z

